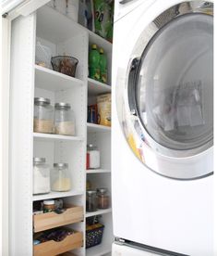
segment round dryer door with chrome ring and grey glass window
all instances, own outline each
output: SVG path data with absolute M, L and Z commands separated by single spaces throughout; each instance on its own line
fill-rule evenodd
M 151 170 L 178 179 L 212 172 L 206 167 L 213 138 L 212 4 L 173 6 L 142 32 L 124 106 L 128 144 Z M 198 160 L 203 164 L 195 168 Z M 170 162 L 189 164 L 175 171 Z

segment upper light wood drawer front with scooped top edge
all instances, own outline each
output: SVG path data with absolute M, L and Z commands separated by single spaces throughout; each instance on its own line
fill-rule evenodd
M 66 206 L 66 211 L 57 214 L 54 211 L 39 215 L 33 215 L 34 232 L 51 229 L 54 227 L 74 224 L 83 221 L 83 207 L 82 206 Z

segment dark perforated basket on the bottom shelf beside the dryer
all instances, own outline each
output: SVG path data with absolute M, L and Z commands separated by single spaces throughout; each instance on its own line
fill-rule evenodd
M 101 244 L 103 229 L 103 224 L 88 225 L 88 228 L 86 228 L 86 248 Z

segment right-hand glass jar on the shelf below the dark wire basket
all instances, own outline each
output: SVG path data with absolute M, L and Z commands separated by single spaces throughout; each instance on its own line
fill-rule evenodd
M 75 115 L 68 103 L 55 103 L 54 133 L 62 135 L 75 135 Z

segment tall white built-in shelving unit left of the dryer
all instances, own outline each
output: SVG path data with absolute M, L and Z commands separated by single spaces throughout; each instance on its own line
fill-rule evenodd
M 96 96 L 111 93 L 112 44 L 49 6 L 42 6 L 27 17 L 12 21 L 10 84 L 10 245 L 11 255 L 32 255 L 32 204 L 48 198 L 63 198 L 66 203 L 83 206 L 84 222 L 68 225 L 83 232 L 84 246 L 73 250 L 77 256 L 100 256 L 111 252 L 113 242 L 112 208 L 86 212 L 86 181 L 93 188 L 107 187 L 111 195 L 111 128 L 87 123 L 87 106 Z M 78 58 L 76 77 L 66 76 L 35 65 L 35 44 L 40 41 L 52 55 Z M 88 78 L 88 53 L 91 44 L 104 49 L 108 58 L 108 84 Z M 76 117 L 76 136 L 33 133 L 34 97 L 70 103 Z M 101 169 L 86 170 L 87 144 L 101 151 Z M 72 179 L 68 192 L 32 195 L 32 158 L 44 157 L 67 162 Z M 20 211 L 18 211 L 18 209 Z M 102 244 L 85 249 L 86 218 L 101 215 L 104 224 Z

